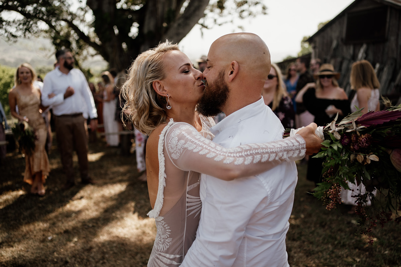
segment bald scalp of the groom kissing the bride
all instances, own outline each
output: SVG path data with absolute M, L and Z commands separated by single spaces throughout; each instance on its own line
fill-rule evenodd
M 265 42 L 249 32 L 221 36 L 211 45 L 209 55 L 211 60 L 218 61 L 222 67 L 237 61 L 242 74 L 251 75 L 252 79 L 265 81 L 271 67 L 270 53 Z

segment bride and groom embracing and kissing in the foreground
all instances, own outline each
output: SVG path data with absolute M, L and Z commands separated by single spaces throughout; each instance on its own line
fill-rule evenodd
M 149 135 L 148 215 L 157 233 L 148 266 L 289 266 L 295 161 L 323 140 L 314 123 L 282 138 L 261 97 L 270 67 L 265 42 L 251 33 L 213 42 L 203 73 L 168 41 L 132 64 L 122 95 Z M 215 124 L 221 111 L 227 117 Z

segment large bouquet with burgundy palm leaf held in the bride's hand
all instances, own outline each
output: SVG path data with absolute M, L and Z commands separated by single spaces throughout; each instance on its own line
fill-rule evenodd
M 393 220 L 393 212 L 395 221 L 401 221 L 401 105 L 366 114 L 361 110 L 339 122 L 337 115 L 332 123 L 320 127 L 324 147 L 314 157 L 324 159 L 323 181 L 314 196 L 331 210 L 341 203 L 341 190 L 352 190 L 361 233 L 372 244 L 370 233 L 377 223 L 383 227 Z M 284 137 L 288 134 L 286 130 Z M 347 182 L 363 184 L 366 190 L 354 191 Z M 367 208 L 368 199 L 372 209 Z

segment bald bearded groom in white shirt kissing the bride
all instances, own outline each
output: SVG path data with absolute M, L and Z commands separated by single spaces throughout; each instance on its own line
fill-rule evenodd
M 261 97 L 270 67 L 269 50 L 255 34 L 227 34 L 213 42 L 197 106 L 206 116 L 227 115 L 211 127 L 213 142 L 231 148 L 282 139 L 284 128 Z M 321 142 L 317 136 L 308 142 L 307 153 L 317 152 Z M 181 266 L 289 266 L 285 239 L 296 183 L 294 162 L 231 182 L 202 174 L 201 219 Z

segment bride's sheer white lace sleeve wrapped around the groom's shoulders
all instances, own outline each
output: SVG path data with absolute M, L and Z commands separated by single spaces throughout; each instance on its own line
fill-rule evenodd
M 177 168 L 223 180 L 265 172 L 283 161 L 299 160 L 306 152 L 305 140 L 300 135 L 263 144 L 223 148 L 183 122 L 174 123 L 165 137 L 167 154 Z

